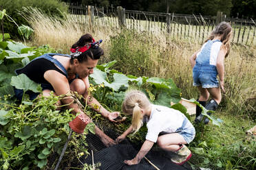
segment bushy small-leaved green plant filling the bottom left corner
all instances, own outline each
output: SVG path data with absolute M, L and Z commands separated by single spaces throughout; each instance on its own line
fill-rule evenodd
M 60 142 L 65 143 L 67 123 L 72 120 L 70 110 L 56 111 L 56 101 L 58 97 L 52 96 L 36 99 L 33 106 L 1 104 L 0 162 L 8 162 L 12 168 L 47 164 L 50 153 L 59 149 Z

